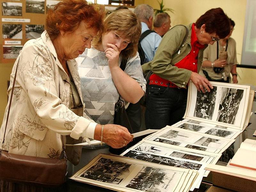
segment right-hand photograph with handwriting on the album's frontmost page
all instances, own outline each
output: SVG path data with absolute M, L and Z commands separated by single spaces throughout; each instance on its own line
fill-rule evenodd
M 178 178 L 178 172 L 170 173 L 164 169 L 143 166 L 126 187 L 148 192 L 172 191 Z

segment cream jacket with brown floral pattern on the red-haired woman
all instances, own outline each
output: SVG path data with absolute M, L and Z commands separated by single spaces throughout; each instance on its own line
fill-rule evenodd
M 62 151 L 60 135 L 78 139 L 92 120 L 77 116 L 68 108 L 70 85 L 64 80 L 69 81 L 69 78 L 46 31 L 41 38 L 29 40 L 19 57 L 4 150 L 21 155 L 59 158 Z M 7 91 L 9 100 L 0 129 L 1 148 L 18 60 L 12 68 Z M 84 103 L 77 63 L 68 60 L 67 64 Z

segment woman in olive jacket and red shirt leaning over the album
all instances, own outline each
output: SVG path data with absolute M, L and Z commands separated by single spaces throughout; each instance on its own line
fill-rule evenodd
M 187 29 L 189 30 L 186 37 Z M 198 91 L 210 92 L 210 82 L 198 72 L 207 44 L 214 44 L 230 32 L 230 22 L 221 8 L 211 9 L 189 26 L 176 26 L 163 37 L 154 59 L 142 65 L 149 70 L 146 128 L 161 129 L 182 120 L 187 106 L 188 82 Z M 186 40 L 182 44 L 183 40 Z

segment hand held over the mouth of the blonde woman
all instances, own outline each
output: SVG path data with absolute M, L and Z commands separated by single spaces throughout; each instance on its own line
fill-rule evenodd
M 106 57 L 108 58 L 108 66 L 109 68 L 118 67 L 118 60 L 119 60 L 119 50 L 114 44 L 107 44 L 109 48 L 105 50 Z

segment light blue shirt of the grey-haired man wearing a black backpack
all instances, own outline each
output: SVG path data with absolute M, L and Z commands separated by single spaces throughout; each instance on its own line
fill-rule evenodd
M 148 25 L 144 22 L 141 22 L 141 34 L 148 30 Z M 141 40 L 140 44 L 145 53 L 145 62 L 151 61 L 154 58 L 156 49 L 160 44 L 162 37 L 157 33 L 150 33 L 144 39 Z

